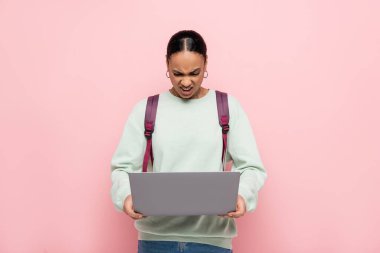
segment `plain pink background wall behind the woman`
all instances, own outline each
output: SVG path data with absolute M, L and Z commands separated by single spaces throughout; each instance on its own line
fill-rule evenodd
M 208 45 L 268 181 L 234 252 L 380 252 L 379 1 L 0 1 L 0 252 L 136 252 L 110 198 L 131 107 Z

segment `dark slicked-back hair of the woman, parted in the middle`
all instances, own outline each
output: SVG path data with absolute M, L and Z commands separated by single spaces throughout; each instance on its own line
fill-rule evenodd
M 166 61 L 169 61 L 172 54 L 185 50 L 197 52 L 203 55 L 205 61 L 207 59 L 207 47 L 202 36 L 193 30 L 182 30 L 170 38 L 166 49 Z

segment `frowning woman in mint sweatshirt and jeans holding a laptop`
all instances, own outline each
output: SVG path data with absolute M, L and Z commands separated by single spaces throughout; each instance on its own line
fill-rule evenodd
M 202 87 L 207 74 L 206 44 L 195 31 L 174 34 L 168 43 L 166 75 L 170 90 L 160 94 L 152 135 L 154 163 L 148 171 L 219 171 L 223 168 L 222 133 L 215 90 Z M 237 236 L 234 218 L 252 212 L 267 174 L 255 137 L 240 103 L 228 95 L 230 130 L 226 161 L 241 172 L 236 211 L 225 215 L 143 216 L 134 212 L 126 172 L 141 172 L 146 147 L 144 116 L 147 98 L 130 113 L 111 161 L 112 201 L 135 220 L 138 252 L 232 252 Z

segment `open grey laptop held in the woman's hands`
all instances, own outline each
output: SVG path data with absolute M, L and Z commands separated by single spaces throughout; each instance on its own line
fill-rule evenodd
M 223 215 L 236 210 L 240 172 L 129 172 L 144 216 Z

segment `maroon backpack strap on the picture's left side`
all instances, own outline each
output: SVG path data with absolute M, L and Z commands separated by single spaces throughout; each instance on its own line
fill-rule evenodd
M 148 161 L 149 156 L 151 157 L 151 161 L 153 164 L 153 149 L 152 149 L 152 133 L 154 132 L 154 123 L 156 121 L 156 112 L 158 105 L 159 94 L 148 97 L 146 108 L 145 108 L 145 132 L 144 135 L 146 137 L 147 143 L 145 148 L 144 162 L 143 162 L 143 172 L 147 172 L 148 170 Z

